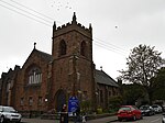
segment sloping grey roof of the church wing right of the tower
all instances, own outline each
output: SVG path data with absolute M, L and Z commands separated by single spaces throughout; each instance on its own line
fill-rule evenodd
M 95 81 L 97 83 L 112 86 L 112 87 L 119 87 L 117 81 L 112 79 L 109 75 L 107 75 L 103 70 L 95 70 Z

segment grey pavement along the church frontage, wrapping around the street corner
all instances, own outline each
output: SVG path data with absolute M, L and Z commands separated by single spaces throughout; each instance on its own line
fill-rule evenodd
M 117 121 L 116 115 L 89 120 L 86 123 L 110 123 L 112 121 Z M 22 123 L 59 123 L 59 120 L 22 119 Z M 74 122 L 69 121 L 69 123 Z

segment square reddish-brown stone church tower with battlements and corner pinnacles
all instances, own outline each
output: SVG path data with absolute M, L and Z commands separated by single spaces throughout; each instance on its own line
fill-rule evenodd
M 59 110 L 68 98 L 76 96 L 81 101 L 92 101 L 95 91 L 92 62 L 92 27 L 77 23 L 74 13 L 72 23 L 53 26 L 52 104 Z M 53 107 L 53 105 L 52 105 Z

